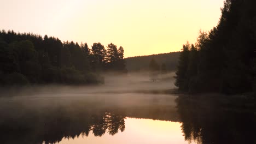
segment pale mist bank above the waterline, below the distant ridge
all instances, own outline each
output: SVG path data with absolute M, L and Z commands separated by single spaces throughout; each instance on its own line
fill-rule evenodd
M 150 91 L 165 91 L 176 88 L 174 86 L 174 73 L 168 73 L 158 76 L 158 81 L 152 82 L 149 80 L 149 74 L 131 73 L 127 75 L 104 74 L 103 85 L 93 86 L 63 86 L 63 85 L 46 85 L 46 86 L 31 86 L 20 89 L 1 89 L 2 96 L 45 96 L 65 97 L 75 95 L 84 95 L 95 93 L 137 93 Z M 10 91 L 9 91 L 10 90 Z M 14 92 L 13 92 L 14 90 Z M 72 95 L 70 95 L 72 94 Z

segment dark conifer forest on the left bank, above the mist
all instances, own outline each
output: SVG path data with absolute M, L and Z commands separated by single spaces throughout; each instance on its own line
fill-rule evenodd
M 124 48 L 112 43 L 62 41 L 38 34 L 0 31 L 0 85 L 102 82 L 105 71 L 126 72 Z

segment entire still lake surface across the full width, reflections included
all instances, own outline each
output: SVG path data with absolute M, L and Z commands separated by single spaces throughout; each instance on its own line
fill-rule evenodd
M 1 97 L 0 140 L 7 144 L 256 143 L 255 109 L 227 101 L 142 93 L 40 92 Z

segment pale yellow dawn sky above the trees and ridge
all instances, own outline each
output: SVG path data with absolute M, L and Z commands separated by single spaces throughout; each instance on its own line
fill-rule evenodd
M 125 57 L 180 51 L 217 25 L 224 0 L 0 0 L 0 29 L 123 46 Z

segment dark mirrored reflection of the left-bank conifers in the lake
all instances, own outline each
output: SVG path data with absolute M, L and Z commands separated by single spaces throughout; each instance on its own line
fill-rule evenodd
M 1 143 L 57 143 L 63 138 L 88 136 L 90 131 L 95 136 L 102 136 L 106 132 L 114 135 L 125 130 L 125 116 L 121 113 L 62 108 L 48 112 L 22 110 L 24 113 L 19 112 L 20 116 L 3 117 L 0 122 Z

